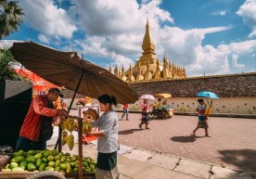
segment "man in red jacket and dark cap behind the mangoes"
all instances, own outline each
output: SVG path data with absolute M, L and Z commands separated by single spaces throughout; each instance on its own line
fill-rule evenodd
M 47 95 L 34 96 L 32 104 L 19 132 L 16 150 L 43 150 L 53 134 L 52 121 L 67 115 L 65 109 L 54 109 L 53 102 L 63 97 L 58 88 L 51 88 Z

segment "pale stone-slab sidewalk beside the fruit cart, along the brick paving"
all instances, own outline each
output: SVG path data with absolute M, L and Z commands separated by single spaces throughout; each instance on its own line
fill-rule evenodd
M 65 146 L 63 151 L 70 152 L 70 149 Z M 78 153 L 77 145 L 71 153 Z M 118 153 L 120 179 L 256 179 L 256 173 L 237 173 L 211 163 L 179 159 L 122 145 Z M 83 156 L 96 159 L 96 155 L 96 143 L 83 146 Z

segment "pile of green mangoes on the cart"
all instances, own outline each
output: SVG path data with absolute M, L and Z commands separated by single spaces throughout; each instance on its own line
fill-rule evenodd
M 57 150 L 19 150 L 12 154 L 10 162 L 2 172 L 42 172 L 58 171 L 62 173 L 78 173 L 79 157 Z M 95 173 L 96 160 L 83 158 L 83 172 Z

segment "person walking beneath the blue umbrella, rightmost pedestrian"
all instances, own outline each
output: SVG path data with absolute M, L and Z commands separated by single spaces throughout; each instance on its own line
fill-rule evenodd
M 205 115 L 205 109 L 206 109 L 205 103 L 204 103 L 203 99 L 198 99 L 198 103 L 199 103 L 199 106 L 198 106 L 198 109 L 197 109 L 197 112 L 198 112 L 198 126 L 192 132 L 192 135 L 196 135 L 196 132 L 198 131 L 198 129 L 203 128 L 203 129 L 205 129 L 205 136 L 210 136 L 208 134 L 208 128 L 209 128 L 208 122 L 207 122 L 208 118 Z

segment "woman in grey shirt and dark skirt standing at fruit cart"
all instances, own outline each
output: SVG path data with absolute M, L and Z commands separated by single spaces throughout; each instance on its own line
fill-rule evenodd
M 100 110 L 104 112 L 97 121 L 92 122 L 93 127 L 98 127 L 98 131 L 86 132 L 98 136 L 96 179 L 117 179 L 120 174 L 117 168 L 119 124 L 118 115 L 112 109 L 112 105 L 116 106 L 117 101 L 114 96 L 109 95 L 99 96 L 97 100 Z

